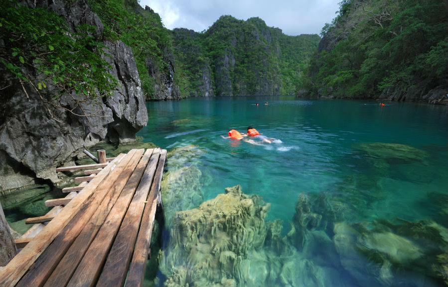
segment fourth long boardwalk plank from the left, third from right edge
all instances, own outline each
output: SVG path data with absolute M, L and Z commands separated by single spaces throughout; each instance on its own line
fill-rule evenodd
M 107 216 L 105 223 L 101 226 L 95 239 L 90 244 L 84 257 L 76 268 L 76 271 L 73 273 L 73 276 L 71 279 L 68 278 L 70 281 L 68 282 L 67 287 L 89 287 L 95 285 L 112 242 L 114 241 L 123 217 L 125 216 L 126 210 L 128 209 L 140 179 L 143 176 L 151 153 L 152 150 L 149 150 L 147 154 L 145 154 L 145 160 L 142 164 L 139 164 L 135 176 L 126 185 L 125 190 L 122 192 L 122 195 Z M 63 266 L 63 269 L 66 269 L 66 265 Z M 54 280 L 51 283 L 60 284 L 60 282 L 60 280 Z M 62 284 L 65 284 L 65 282 L 63 281 Z M 47 285 L 45 285 L 45 287 L 47 287 Z M 51 284 L 49 284 L 48 287 L 51 287 Z

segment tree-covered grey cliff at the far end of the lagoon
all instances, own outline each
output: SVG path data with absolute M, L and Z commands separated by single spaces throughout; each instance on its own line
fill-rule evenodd
M 204 90 L 218 96 L 294 94 L 319 41 L 317 35 L 285 35 L 260 18 L 232 16 L 201 33 L 174 29 L 172 35 L 177 83 L 188 96 L 204 96 Z

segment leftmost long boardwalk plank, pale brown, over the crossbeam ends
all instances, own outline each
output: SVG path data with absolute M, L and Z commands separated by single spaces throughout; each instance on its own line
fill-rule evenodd
M 116 162 L 120 162 L 117 158 Z M 68 222 L 82 208 L 85 201 L 91 197 L 93 191 L 103 182 L 107 175 L 115 168 L 115 163 L 109 164 L 93 181 L 73 198 L 48 224 L 19 252 L 3 269 L 0 270 L 0 286 L 13 287 L 36 261 L 39 255 L 50 245 L 55 237 L 63 230 Z M 109 183 L 109 181 L 105 181 Z M 33 285 L 28 285 L 33 286 Z

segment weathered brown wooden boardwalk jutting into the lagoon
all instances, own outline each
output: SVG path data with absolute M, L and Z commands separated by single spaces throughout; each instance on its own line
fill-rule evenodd
M 0 270 L 1 287 L 142 286 L 166 150 L 131 150 L 83 170 L 65 198 L 19 239 L 23 248 Z

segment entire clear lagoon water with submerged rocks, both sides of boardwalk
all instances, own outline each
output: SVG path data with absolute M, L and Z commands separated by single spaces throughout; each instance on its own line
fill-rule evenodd
M 145 286 L 448 285 L 447 106 L 248 96 L 147 107 L 148 126 L 138 136 L 171 152 L 164 176 L 171 184 L 162 192 L 174 195 L 164 197 L 165 229 L 151 247 Z M 249 125 L 282 143 L 221 137 Z M 173 225 L 175 212 L 235 185 L 270 203 L 258 218 L 266 229 L 246 218 L 249 227 L 237 239 L 254 230 L 253 238 L 268 238 L 270 222 L 277 222 L 278 241 L 235 247 L 227 238 L 233 234 L 197 234 L 195 253 L 185 252 L 191 238 L 172 238 L 176 230 L 183 234 Z M 45 199 L 61 197 L 47 188 L 32 193 L 21 205 L 7 197 L 5 215 L 19 232 L 29 227 L 25 218 L 47 211 Z M 309 208 L 299 206 L 299 196 Z M 207 251 L 220 236 L 230 243 Z

